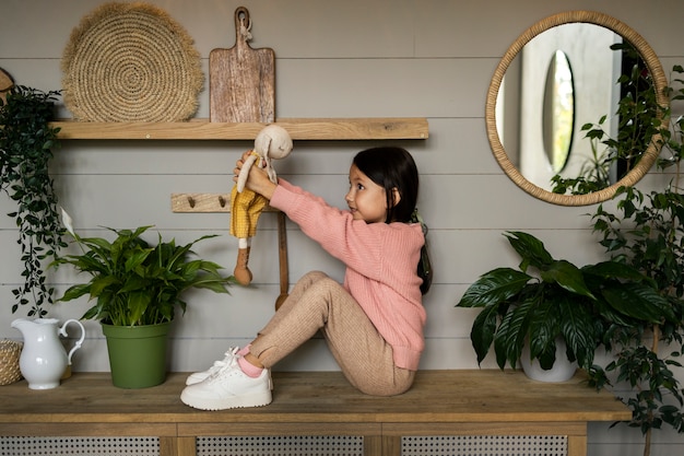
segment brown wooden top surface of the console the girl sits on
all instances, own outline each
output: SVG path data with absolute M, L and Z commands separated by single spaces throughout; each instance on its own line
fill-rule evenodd
M 273 373 L 267 407 L 202 411 L 179 395 L 187 373 L 160 386 L 121 389 L 108 373 L 74 373 L 54 389 L 25 381 L 0 387 L 1 423 L 431 423 L 587 422 L 628 420 L 630 411 L 609 391 L 598 393 L 578 374 L 566 383 L 529 379 L 498 370 L 421 371 L 414 386 L 394 397 L 354 389 L 340 372 Z

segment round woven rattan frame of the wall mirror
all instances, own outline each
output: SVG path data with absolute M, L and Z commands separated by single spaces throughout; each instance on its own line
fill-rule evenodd
M 636 184 L 638 180 L 641 179 L 641 177 L 646 175 L 646 173 L 648 173 L 648 171 L 656 162 L 656 159 L 660 154 L 662 139 L 660 135 L 653 136 L 647 150 L 641 156 L 641 160 L 639 160 L 639 163 L 637 163 L 636 166 L 632 168 L 618 182 L 611 185 L 610 187 L 586 195 L 559 195 L 538 187 L 536 185 L 526 179 L 522 174 L 520 174 L 518 168 L 516 168 L 516 166 L 508 159 L 506 150 L 502 144 L 498 131 L 496 129 L 496 100 L 498 96 L 499 87 L 502 85 L 502 81 L 504 80 L 504 74 L 506 74 L 506 70 L 508 69 L 515 57 L 518 55 L 518 52 L 522 50 L 522 47 L 536 35 L 557 25 L 577 22 L 601 25 L 605 28 L 613 31 L 614 33 L 617 33 L 624 39 L 629 42 L 644 58 L 644 61 L 653 79 L 653 89 L 656 90 L 656 100 L 658 101 L 659 106 L 667 107 L 670 104 L 669 97 L 664 93 L 664 90 L 668 86 L 668 80 L 665 78 L 665 73 L 662 70 L 662 66 L 660 63 L 660 60 L 658 59 L 658 56 L 638 33 L 636 33 L 633 28 L 618 21 L 617 19 L 595 11 L 567 11 L 543 19 L 529 27 L 527 31 L 524 31 L 518 37 L 518 39 L 516 39 L 512 45 L 510 45 L 508 50 L 506 50 L 506 54 L 504 55 L 498 66 L 496 67 L 496 70 L 494 71 L 494 77 L 492 78 L 490 90 L 487 91 L 487 100 L 485 105 L 487 138 L 490 140 L 490 145 L 492 148 L 492 152 L 494 153 L 494 157 L 498 162 L 499 166 L 504 169 L 504 173 L 506 173 L 518 187 L 538 199 L 559 206 L 588 206 L 605 201 L 611 199 L 620 187 L 632 186 Z M 664 113 L 662 114 L 664 115 Z M 667 121 L 667 119 L 664 118 L 663 120 Z

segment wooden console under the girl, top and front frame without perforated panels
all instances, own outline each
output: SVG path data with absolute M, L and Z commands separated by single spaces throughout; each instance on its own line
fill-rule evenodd
M 198 436 L 363 436 L 366 455 L 389 456 L 402 436 L 563 435 L 568 456 L 581 456 L 588 422 L 632 417 L 581 375 L 546 384 L 512 371 L 422 371 L 406 394 L 378 398 L 339 372 L 274 373 L 270 406 L 211 412 L 180 402 L 186 376 L 145 389 L 114 387 L 106 373 L 75 373 L 49 390 L 2 386 L 0 435 L 158 436 L 161 456 L 196 455 Z

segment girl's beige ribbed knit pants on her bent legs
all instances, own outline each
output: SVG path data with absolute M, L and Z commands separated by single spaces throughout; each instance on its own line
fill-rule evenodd
M 250 353 L 270 369 L 319 330 L 345 377 L 361 391 L 393 396 L 411 387 L 415 372 L 394 366 L 389 343 L 354 297 L 323 272 L 299 279 Z

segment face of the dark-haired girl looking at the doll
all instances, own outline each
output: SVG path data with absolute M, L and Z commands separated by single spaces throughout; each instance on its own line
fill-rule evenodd
M 354 220 L 364 220 L 366 223 L 385 222 L 387 218 L 385 188 L 370 180 L 354 164 L 350 168 L 350 191 L 344 199 Z

